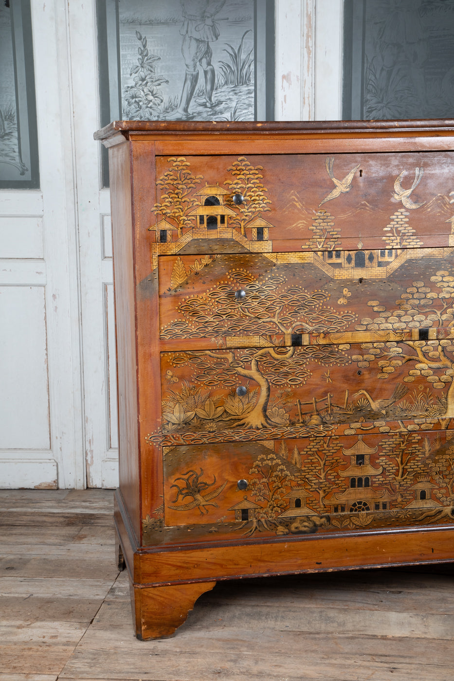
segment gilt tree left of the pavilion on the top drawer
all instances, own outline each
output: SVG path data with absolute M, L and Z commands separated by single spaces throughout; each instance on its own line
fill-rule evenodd
M 191 208 L 198 205 L 197 197 L 192 190 L 200 185 L 202 175 L 194 175 L 190 163 L 183 156 L 172 156 L 168 159 L 172 168 L 156 180 L 158 187 L 164 189 L 161 201 L 155 204 L 155 215 L 171 218 L 177 223 L 178 238 L 183 236 L 183 227 L 192 227 L 192 219 L 188 215 Z

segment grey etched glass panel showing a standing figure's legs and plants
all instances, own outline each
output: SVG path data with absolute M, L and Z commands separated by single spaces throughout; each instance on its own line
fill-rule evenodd
M 274 0 L 97 0 L 97 31 L 101 125 L 274 118 Z

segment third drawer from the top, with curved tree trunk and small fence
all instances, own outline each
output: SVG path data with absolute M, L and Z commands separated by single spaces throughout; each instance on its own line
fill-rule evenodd
M 416 346 L 415 347 L 415 343 Z M 454 415 L 451 340 L 162 353 L 162 432 L 232 440 L 431 430 Z

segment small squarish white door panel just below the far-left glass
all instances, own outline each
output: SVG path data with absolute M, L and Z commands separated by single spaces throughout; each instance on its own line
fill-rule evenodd
M 0 217 L 0 257 L 43 258 L 42 217 Z

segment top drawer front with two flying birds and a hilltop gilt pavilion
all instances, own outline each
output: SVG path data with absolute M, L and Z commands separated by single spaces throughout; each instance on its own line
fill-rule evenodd
M 453 170 L 449 152 L 159 157 L 151 229 L 160 253 L 447 245 Z

